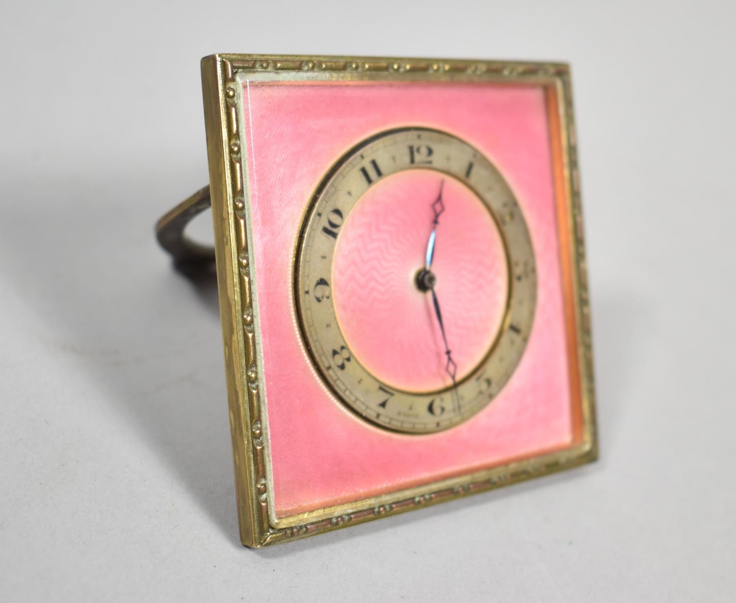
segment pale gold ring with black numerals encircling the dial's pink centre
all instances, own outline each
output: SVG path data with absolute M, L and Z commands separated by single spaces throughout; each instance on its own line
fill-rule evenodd
M 417 135 L 421 136 L 420 140 L 417 140 Z M 422 154 L 425 157 L 428 151 L 423 147 L 432 149 L 431 158 L 434 163 L 431 165 L 412 163 L 411 151 L 408 149 L 417 142 L 422 144 Z M 395 161 L 392 160 L 392 157 L 395 157 Z M 417 157 L 419 157 L 417 148 L 414 147 L 415 162 Z M 450 157 L 450 160 L 446 161 L 445 157 Z M 380 174 L 375 171 L 372 162 L 379 166 Z M 472 169 L 468 167 L 469 165 L 472 165 Z M 369 170 L 372 182 L 367 182 L 361 168 Z M 516 281 L 516 279 L 509 278 L 506 315 L 500 323 L 502 327 L 495 337 L 489 340 L 487 352 L 478 364 L 469 367 L 469 370 L 459 375 L 456 387 L 450 384 L 444 388 L 429 390 L 397 388 L 394 384 L 386 382 L 380 374 L 372 374 L 364 363 L 361 363 L 361 357 L 350 349 L 350 341 L 344 335 L 332 296 L 330 299 L 325 297 L 318 302 L 314 299 L 314 294 L 305 296 L 304 299 L 295 295 L 294 301 L 297 322 L 305 341 L 305 349 L 310 357 L 314 359 L 330 357 L 332 350 L 339 350 L 341 346 L 350 351 L 351 360 L 344 363 L 345 368 L 343 369 L 327 370 L 322 368 L 322 363 L 313 363 L 317 374 L 332 390 L 339 402 L 355 411 L 356 415 L 364 420 L 386 429 L 407 433 L 429 433 L 459 424 L 498 396 L 498 392 L 503 388 L 519 362 L 528 335 L 531 333 L 537 286 L 534 251 L 526 222 L 523 220 L 523 212 L 498 169 L 480 151 L 463 140 L 437 130 L 395 129 L 381 132 L 365 140 L 344 154 L 342 159 L 333 166 L 311 199 L 302 223 L 300 240 L 297 243 L 294 290 L 297 292 L 306 289 L 314 290 L 314 285 L 319 279 L 324 279 L 330 282 L 330 286 L 333 286 L 330 277 L 332 276 L 334 254 L 339 247 L 342 225 L 347 224 L 350 212 L 364 194 L 355 194 L 355 190 L 369 190 L 394 174 L 417 168 L 434 171 L 438 180 L 443 183 L 445 179 L 450 178 L 473 190 L 475 196 L 485 204 L 498 227 L 506 254 L 506 263 L 509 267 L 514 263 L 527 267 L 527 276 L 522 280 Z M 470 176 L 469 179 L 466 174 Z M 485 193 L 484 196 L 478 192 L 488 189 L 493 191 L 492 194 Z M 350 192 L 353 194 L 348 194 Z M 509 208 L 514 211 L 517 219 L 503 224 L 500 216 L 504 215 L 502 212 L 508 213 Z M 335 209 L 339 210 L 344 218 L 339 229 L 330 228 L 327 221 L 330 211 Z M 325 227 L 336 232 L 336 236 L 333 238 L 331 235 L 325 235 L 322 232 Z M 428 253 L 423 258 L 425 267 L 431 266 L 430 255 L 434 255 L 434 245 L 431 254 L 429 249 L 427 251 Z M 510 269 L 508 276 L 512 276 Z M 323 290 L 324 288 L 319 291 Z M 482 303 L 482 300 L 478 300 L 478 303 Z M 306 327 L 307 324 L 311 326 Z M 316 325 L 325 324 L 332 324 L 333 327 L 330 329 L 316 327 Z M 510 325 L 513 325 L 514 329 L 509 332 Z M 514 332 L 515 329 L 519 329 L 518 335 Z M 443 326 L 443 335 L 447 339 L 444 330 Z M 449 350 L 450 347 L 445 346 L 445 350 L 439 350 L 439 352 L 445 354 Z M 447 354 L 447 357 L 453 360 L 452 352 Z M 502 357 L 503 360 L 500 360 Z M 450 374 L 449 371 L 448 374 Z M 489 388 L 482 391 L 477 381 L 481 374 L 483 384 L 486 383 L 486 380 L 492 383 Z M 391 391 L 392 396 L 388 396 L 386 391 Z M 461 407 L 459 404 L 450 404 L 449 399 L 445 398 L 446 394 L 458 396 L 458 400 L 462 399 Z M 435 402 L 433 408 L 436 415 L 427 410 L 434 400 L 444 401 Z M 383 404 L 384 402 L 386 404 Z M 444 410 L 440 411 L 440 408 Z

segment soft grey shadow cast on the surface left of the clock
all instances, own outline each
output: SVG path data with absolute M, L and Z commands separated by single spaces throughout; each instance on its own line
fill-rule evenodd
M 0 276 L 24 290 L 25 311 L 56 362 L 99 392 L 88 413 L 120 421 L 127 446 L 158 457 L 239 547 L 215 274 L 171 268 L 153 238 L 158 210 L 130 201 L 166 198 L 170 191 L 157 185 L 165 186 L 138 174 L 11 183 L 16 202 L 0 221 Z M 101 228 L 110 207 L 127 210 Z M 30 245 L 29 232 L 43 245 Z

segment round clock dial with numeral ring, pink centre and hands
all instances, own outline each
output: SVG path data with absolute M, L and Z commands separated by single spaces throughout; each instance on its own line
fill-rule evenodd
M 486 157 L 446 132 L 394 129 L 348 151 L 317 188 L 294 296 L 316 371 L 347 407 L 436 432 L 512 376 L 534 319 L 534 251 Z

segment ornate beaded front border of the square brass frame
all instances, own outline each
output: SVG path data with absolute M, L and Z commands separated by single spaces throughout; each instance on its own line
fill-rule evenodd
M 592 343 L 590 335 L 590 302 L 587 289 L 587 261 L 585 255 L 583 224 L 581 214 L 581 199 L 576 150 L 576 135 L 573 121 L 573 104 L 570 87 L 570 70 L 567 65 L 559 63 L 521 63 L 521 62 L 493 62 L 471 60 L 420 60 L 420 59 L 376 59 L 359 57 L 289 57 L 289 56 L 252 56 L 240 54 L 216 55 L 219 65 L 220 78 L 224 83 L 224 107 L 221 107 L 227 129 L 227 165 L 225 173 L 229 184 L 233 213 L 236 223 L 231 226 L 231 235 L 235 235 L 238 258 L 238 278 L 233 285 L 236 287 L 236 299 L 240 299 L 238 313 L 238 329 L 243 334 L 245 381 L 247 382 L 247 404 L 238 401 L 235 405 L 243 416 L 236 418 L 233 415 L 233 403 L 230 408 L 230 423 L 233 427 L 233 437 L 236 437 L 236 421 L 241 421 L 246 434 L 245 446 L 250 442 L 252 463 L 239 459 L 236 453 L 236 472 L 240 471 L 238 479 L 247 480 L 247 490 L 255 506 L 256 513 L 251 515 L 252 534 L 255 542 L 247 543 L 250 546 L 264 546 L 285 542 L 308 535 L 328 532 L 331 529 L 345 527 L 348 524 L 360 524 L 385 515 L 403 513 L 408 510 L 437 504 L 448 500 L 477 493 L 503 485 L 521 482 L 532 477 L 562 471 L 577 465 L 589 463 L 598 456 L 597 432 L 595 426 L 595 392 L 592 369 Z M 559 98 L 562 99 L 561 124 L 566 138 L 566 160 L 569 182 L 567 182 L 570 213 L 573 217 L 573 260 L 576 327 L 578 333 L 578 362 L 581 374 L 581 402 L 583 404 L 583 443 L 559 452 L 545 454 L 528 460 L 503 465 L 495 469 L 480 471 L 475 474 L 446 480 L 445 482 L 425 485 L 421 488 L 406 490 L 406 493 L 417 492 L 413 496 L 378 504 L 386 496 L 377 499 L 375 506 L 339 513 L 340 507 L 335 507 L 335 515 L 317 521 L 304 521 L 286 528 L 273 527 L 269 521 L 269 498 L 267 492 L 268 480 L 266 451 L 264 447 L 264 428 L 261 421 L 263 407 L 260 399 L 258 379 L 258 341 L 256 338 L 255 318 L 253 312 L 250 261 L 247 246 L 247 226 L 245 183 L 241 161 L 241 142 L 238 124 L 238 83 L 236 74 L 239 72 L 297 72 L 320 71 L 336 76 L 350 76 L 354 79 L 364 79 L 359 74 L 424 74 L 426 81 L 455 79 L 453 76 L 473 76 L 474 81 L 492 79 L 493 81 L 538 82 L 542 80 L 558 85 Z M 350 78 L 353 79 L 353 78 Z M 366 78 L 367 79 L 367 78 Z M 232 359 L 231 361 L 236 361 Z M 235 448 L 234 448 L 235 449 Z M 243 466 L 243 463 L 246 466 Z M 250 466 L 249 466 L 250 465 Z M 450 483 L 450 485 L 448 485 Z M 243 504 L 238 500 L 238 506 Z M 358 504 L 358 502 L 356 502 Z M 309 514 L 305 514 L 305 517 Z M 241 516 L 241 521 L 244 518 Z

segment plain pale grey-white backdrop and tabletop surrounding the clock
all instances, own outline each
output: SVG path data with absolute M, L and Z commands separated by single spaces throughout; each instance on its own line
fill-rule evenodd
M 2 12 L 0 599 L 734 600 L 732 2 Z M 599 463 L 241 547 L 216 292 L 152 236 L 216 51 L 572 63 Z

